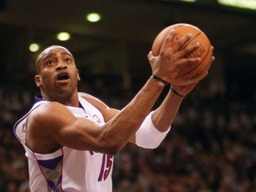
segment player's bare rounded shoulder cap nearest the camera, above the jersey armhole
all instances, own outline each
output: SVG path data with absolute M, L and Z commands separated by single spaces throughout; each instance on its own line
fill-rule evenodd
M 60 148 L 60 132 L 76 121 L 67 107 L 58 102 L 46 102 L 35 108 L 27 119 L 26 145 L 37 153 L 50 153 Z

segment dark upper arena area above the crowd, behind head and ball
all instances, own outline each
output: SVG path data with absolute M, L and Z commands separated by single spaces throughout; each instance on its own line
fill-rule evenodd
M 111 73 L 131 89 L 148 77 L 146 57 L 156 35 L 169 25 L 185 22 L 201 28 L 212 41 L 216 60 L 208 79 L 254 85 L 255 11 L 221 6 L 214 0 L 195 4 L 172 0 L 1 0 L 0 5 L 4 84 L 16 81 L 21 86 L 24 78 L 29 79 L 28 72 L 33 75 L 37 53 L 28 52 L 28 44 L 36 42 L 40 51 L 51 44 L 67 46 L 84 78 Z M 84 19 L 88 12 L 100 12 L 102 20 L 89 23 Z M 56 40 L 59 31 L 71 33 L 71 39 L 64 43 Z

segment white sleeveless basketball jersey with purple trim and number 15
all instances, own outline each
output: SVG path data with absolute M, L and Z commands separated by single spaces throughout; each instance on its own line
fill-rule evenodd
M 26 150 L 28 157 L 29 186 L 31 192 L 110 192 L 114 156 L 60 148 L 51 154 L 38 154 L 25 144 L 27 117 L 32 110 L 48 101 L 41 100 L 15 125 L 14 133 Z M 97 108 L 79 96 L 83 108 L 67 108 L 76 117 L 84 117 L 97 124 L 105 124 Z

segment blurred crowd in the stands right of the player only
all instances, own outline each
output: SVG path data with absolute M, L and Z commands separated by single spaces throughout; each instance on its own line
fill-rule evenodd
M 226 98 L 224 84 L 196 88 L 154 150 L 116 156 L 116 192 L 255 192 L 253 104 Z

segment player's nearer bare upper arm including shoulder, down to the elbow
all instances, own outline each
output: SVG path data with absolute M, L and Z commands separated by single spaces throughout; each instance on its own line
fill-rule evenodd
M 38 153 L 50 153 L 61 146 L 105 152 L 101 127 L 85 118 L 76 118 L 57 102 L 44 104 L 28 116 L 27 145 Z

